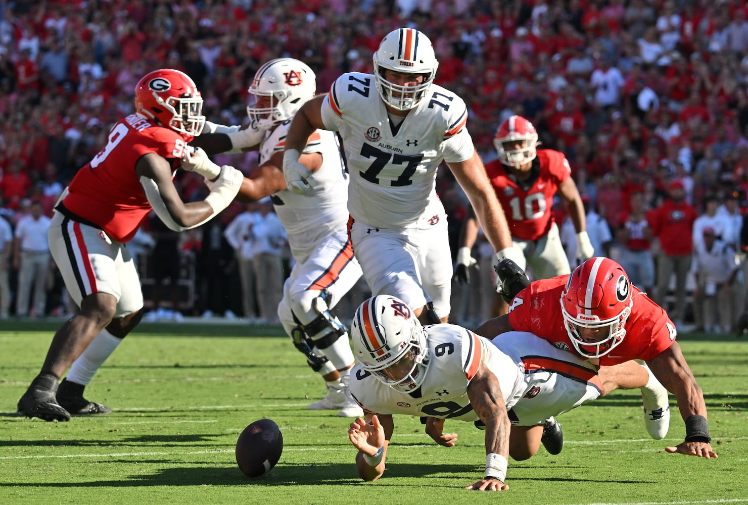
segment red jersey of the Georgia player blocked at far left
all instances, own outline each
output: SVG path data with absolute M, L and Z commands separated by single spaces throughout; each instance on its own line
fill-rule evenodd
M 109 131 L 104 149 L 70 182 L 70 192 L 63 200 L 65 208 L 99 226 L 112 240 L 129 241 L 151 210 L 135 164 L 141 156 L 154 152 L 177 170 L 189 140 L 190 136 L 135 114 L 118 121 Z

